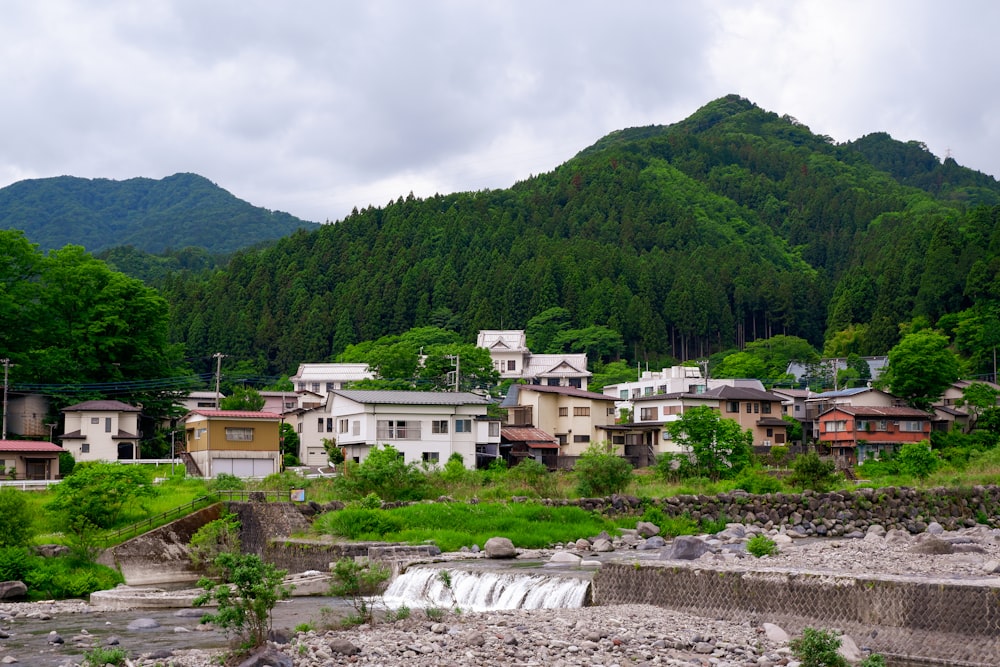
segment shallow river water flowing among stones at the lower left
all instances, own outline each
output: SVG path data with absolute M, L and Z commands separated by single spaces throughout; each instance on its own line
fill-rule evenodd
M 330 597 L 299 597 L 278 602 L 274 609 L 274 629 L 291 631 L 303 623 L 314 625 L 321 621 L 321 608 L 344 609 L 344 601 Z M 105 646 L 112 636 L 118 637 L 119 647 L 130 656 L 154 651 L 173 651 L 193 648 L 225 648 L 228 638 L 217 630 L 206 630 L 199 623 L 201 610 L 134 609 L 131 611 L 92 610 L 81 614 L 54 615 L 51 620 L 9 619 L 0 620 L 10 637 L 0 639 L 0 658 L 11 656 L 20 664 L 32 667 L 57 667 L 78 663 L 92 646 Z M 160 627 L 152 630 L 129 630 L 128 624 L 137 618 L 152 618 Z M 201 626 L 201 629 L 199 629 Z M 186 631 L 177 631 L 183 628 Z M 49 643 L 49 633 L 55 630 L 64 644 Z M 89 633 L 86 645 L 74 641 L 82 631 Z

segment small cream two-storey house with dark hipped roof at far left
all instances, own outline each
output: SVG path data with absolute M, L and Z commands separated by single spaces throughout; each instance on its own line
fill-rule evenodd
M 84 401 L 63 408 L 63 448 L 77 461 L 138 459 L 140 409 L 121 401 Z

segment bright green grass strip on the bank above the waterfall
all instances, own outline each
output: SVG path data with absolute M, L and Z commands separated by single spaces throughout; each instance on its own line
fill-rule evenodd
M 353 540 L 433 542 L 442 551 L 457 551 L 473 544 L 482 547 L 497 535 L 510 538 L 517 547 L 537 549 L 597 535 L 602 530 L 617 533 L 612 521 L 579 507 L 547 507 L 532 502 L 427 503 L 392 510 L 354 510 L 353 515 L 346 516 L 343 512 L 329 512 L 317 518 L 313 530 Z

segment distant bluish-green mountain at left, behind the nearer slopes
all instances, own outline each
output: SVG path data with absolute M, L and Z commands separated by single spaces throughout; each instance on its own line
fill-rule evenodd
M 44 250 L 128 245 L 162 253 L 193 246 L 225 254 L 316 227 L 252 206 L 197 174 L 125 181 L 59 176 L 0 189 L 0 229 L 20 229 Z

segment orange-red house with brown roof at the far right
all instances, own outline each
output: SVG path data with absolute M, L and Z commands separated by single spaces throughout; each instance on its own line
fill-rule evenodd
M 909 442 L 929 441 L 931 419 L 914 408 L 832 407 L 819 417 L 820 442 L 830 448 L 838 467 L 847 468 Z

